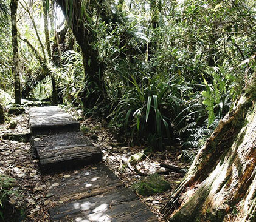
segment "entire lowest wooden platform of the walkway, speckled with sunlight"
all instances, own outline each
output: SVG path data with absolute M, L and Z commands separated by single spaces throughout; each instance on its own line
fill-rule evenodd
M 53 180 L 52 222 L 155 222 L 157 218 L 137 195 L 103 164 Z M 56 186 L 56 184 L 58 186 Z

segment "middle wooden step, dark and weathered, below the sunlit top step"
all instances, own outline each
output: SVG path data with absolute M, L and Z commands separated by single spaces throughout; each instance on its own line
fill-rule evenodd
M 30 143 L 44 173 L 76 169 L 102 161 L 100 149 L 82 132 L 32 136 Z

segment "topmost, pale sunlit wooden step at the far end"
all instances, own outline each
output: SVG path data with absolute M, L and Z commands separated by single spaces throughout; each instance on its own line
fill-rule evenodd
M 47 135 L 57 132 L 72 132 L 80 129 L 80 123 L 57 106 L 30 109 L 32 135 Z

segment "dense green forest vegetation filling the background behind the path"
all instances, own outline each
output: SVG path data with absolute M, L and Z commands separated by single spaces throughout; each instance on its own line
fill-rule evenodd
M 15 96 L 9 4 L 0 122 Z M 255 13 L 253 0 L 20 0 L 21 96 L 83 109 L 130 143 L 178 146 L 191 161 L 255 72 Z

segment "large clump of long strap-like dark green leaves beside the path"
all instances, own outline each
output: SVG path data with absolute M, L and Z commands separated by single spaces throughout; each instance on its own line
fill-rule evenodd
M 109 118 L 111 124 L 126 130 L 131 129 L 133 136 L 156 135 L 159 150 L 162 149 L 162 138 L 170 137 L 171 115 L 178 115 L 184 104 L 181 92 L 190 88 L 182 86 L 182 79 L 173 76 L 164 82 L 162 76 L 143 78 L 139 83 L 130 76 L 131 87 L 120 86 L 125 91 L 119 99 Z M 174 118 L 173 118 L 174 119 Z

